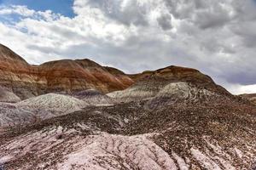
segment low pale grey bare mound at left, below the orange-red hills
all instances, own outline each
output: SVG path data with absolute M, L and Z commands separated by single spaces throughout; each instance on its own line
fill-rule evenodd
M 83 100 L 62 94 L 44 94 L 15 104 L 0 102 L 0 127 L 38 122 L 81 111 L 87 105 Z

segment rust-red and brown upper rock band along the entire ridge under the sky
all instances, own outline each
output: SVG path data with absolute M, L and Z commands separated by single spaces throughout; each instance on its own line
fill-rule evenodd
M 90 59 L 62 59 L 43 65 L 29 65 L 9 48 L 0 45 L 0 86 L 11 88 L 20 99 L 50 92 L 73 93 L 89 88 L 107 94 L 129 88 L 132 84 L 136 86 L 150 82 L 153 82 L 150 85 L 153 88 L 166 82 L 191 82 L 221 94 L 229 94 L 216 85 L 211 77 L 191 68 L 172 65 L 157 71 L 125 75 L 118 69 L 98 65 Z

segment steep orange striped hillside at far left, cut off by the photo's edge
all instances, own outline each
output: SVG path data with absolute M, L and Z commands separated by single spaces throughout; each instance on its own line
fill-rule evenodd
M 18 54 L 0 45 L 0 85 L 12 90 L 21 99 L 37 94 L 36 68 Z

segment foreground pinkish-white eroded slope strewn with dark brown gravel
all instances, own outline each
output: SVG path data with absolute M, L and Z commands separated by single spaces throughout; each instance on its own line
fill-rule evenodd
M 90 106 L 0 136 L 6 169 L 253 169 L 256 111 L 226 100 Z

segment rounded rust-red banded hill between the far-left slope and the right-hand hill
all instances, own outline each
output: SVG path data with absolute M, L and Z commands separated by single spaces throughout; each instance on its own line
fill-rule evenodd
M 58 60 L 38 66 L 39 82 L 49 91 L 67 92 L 94 88 L 102 93 L 128 88 L 133 81 L 125 74 L 111 73 L 90 59 Z

